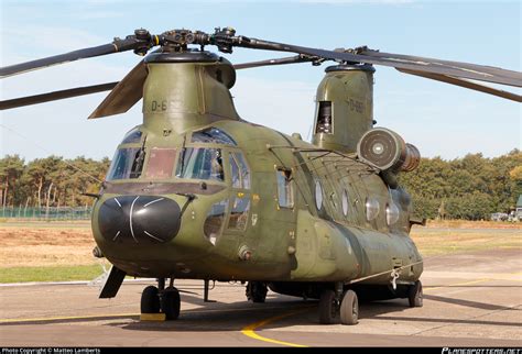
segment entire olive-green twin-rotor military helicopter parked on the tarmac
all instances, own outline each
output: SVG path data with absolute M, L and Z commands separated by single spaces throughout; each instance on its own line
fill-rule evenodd
M 295 55 L 232 65 L 208 45 Z M 140 29 L 101 46 L 2 67 L 0 75 L 124 51 L 146 56 L 119 82 L 6 100 L 0 108 L 111 90 L 89 117 L 98 119 L 143 98 L 143 123 L 123 137 L 91 195 L 94 253 L 112 264 L 100 298 L 115 297 L 127 275 L 153 277 L 157 286 L 143 290 L 141 312 L 167 320 L 180 316 L 175 279 L 203 279 L 205 300 L 211 280 L 248 283 L 253 302 L 264 302 L 269 288 L 319 299 L 325 324 L 356 324 L 359 298 L 407 298 L 421 307 L 423 258 L 409 233 L 424 220 L 413 217 L 398 182 L 418 166 L 420 153 L 373 126 L 373 65 L 522 101 L 476 82 L 521 87 L 518 71 L 368 47 L 309 48 L 231 27 L 159 35 Z M 326 60 L 336 63 L 317 88 L 312 143 L 236 112 L 229 89 L 237 69 Z

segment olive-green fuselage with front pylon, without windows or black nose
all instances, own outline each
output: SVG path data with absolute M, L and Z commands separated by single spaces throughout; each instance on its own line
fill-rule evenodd
M 388 188 L 378 172 L 358 162 L 350 154 L 354 144 L 340 151 L 320 150 L 297 136 L 242 121 L 228 91 L 233 71 L 225 62 L 150 62 L 148 66 L 144 120 L 138 126 L 146 141 L 118 147 L 143 147 L 143 173 L 139 178 L 108 180 L 93 215 L 95 240 L 118 268 L 132 276 L 156 278 L 347 281 L 422 259 L 409 236 L 409 195 Z M 371 118 L 371 112 L 368 114 Z M 363 124 L 371 128 L 368 117 Z M 236 145 L 193 142 L 193 132 L 206 128 L 226 132 Z M 148 178 L 150 152 L 162 147 L 176 151 L 174 166 L 181 163 L 184 150 L 219 150 L 225 157 L 224 180 L 176 177 L 176 167 L 168 178 Z M 233 185 L 228 156 L 237 152 L 244 156 L 250 186 Z M 281 170 L 291 175 L 292 192 L 292 203 L 283 206 L 278 187 Z M 174 200 L 182 209 L 175 236 L 146 244 L 104 237 L 98 223 L 100 206 L 124 195 Z M 196 198 L 188 200 L 186 195 Z M 240 214 L 241 228 L 231 219 L 237 198 L 248 201 Z M 370 221 L 368 199 L 379 206 Z M 225 215 L 210 242 L 204 228 L 211 207 L 219 202 L 226 206 Z M 399 209 L 399 219 L 390 224 L 389 204 Z M 399 280 L 412 283 L 421 273 L 422 264 L 405 267 Z M 390 275 L 366 281 L 389 284 Z

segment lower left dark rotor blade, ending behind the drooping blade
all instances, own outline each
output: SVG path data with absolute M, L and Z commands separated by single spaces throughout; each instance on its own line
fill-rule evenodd
M 54 92 L 48 92 L 48 93 L 26 96 L 26 97 L 15 98 L 11 100 L 4 100 L 4 101 L 0 101 L 0 110 L 3 111 L 3 110 L 12 109 L 12 108 L 18 108 L 18 107 L 57 101 L 57 100 L 63 100 L 66 98 L 72 98 L 72 97 L 77 97 L 77 96 L 108 91 L 108 90 L 113 89 L 117 84 L 118 82 L 108 82 L 108 84 L 101 84 L 101 85 L 77 87 L 77 88 L 67 89 L 67 90 L 59 90 L 59 91 L 54 91 Z

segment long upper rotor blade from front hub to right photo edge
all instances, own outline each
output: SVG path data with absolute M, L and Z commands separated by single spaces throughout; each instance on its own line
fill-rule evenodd
M 374 54 L 379 52 L 373 51 L 367 51 L 366 53 L 362 52 L 361 54 L 349 53 L 345 51 L 326 51 L 247 37 L 241 37 L 241 40 L 238 41 L 236 45 L 267 51 L 298 53 L 338 62 L 367 63 L 390 66 L 396 69 L 409 69 L 421 73 L 439 74 L 457 78 L 467 78 L 479 81 L 522 87 L 521 73 L 501 68 L 492 68 L 482 65 L 435 59 L 431 60 L 423 57 L 387 57 L 385 54 L 384 56 L 380 56 Z

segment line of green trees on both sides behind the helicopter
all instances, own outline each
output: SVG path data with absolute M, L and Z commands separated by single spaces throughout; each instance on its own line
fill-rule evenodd
M 18 155 L 8 155 L 0 159 L 1 206 L 90 204 L 93 199 L 81 193 L 99 190 L 99 180 L 105 179 L 109 165 L 107 157 L 94 161 L 50 156 L 25 163 Z M 481 154 L 452 161 L 422 158 L 416 170 L 400 174 L 399 178 L 420 217 L 489 219 L 493 212 L 509 212 L 522 193 L 522 153 L 513 150 L 494 158 Z

